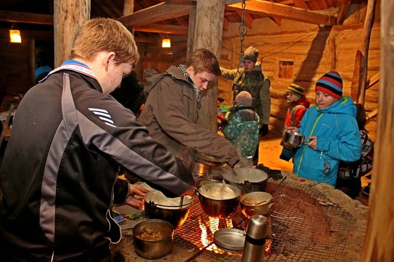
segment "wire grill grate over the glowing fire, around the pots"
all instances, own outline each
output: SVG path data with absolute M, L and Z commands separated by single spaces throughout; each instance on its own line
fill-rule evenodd
M 316 199 L 329 202 L 315 188 L 284 181 L 278 188 L 278 182 L 269 181 L 266 192 L 275 191 L 271 217 L 268 222 L 272 230 L 272 243 L 269 255 L 264 261 L 331 261 L 340 258 L 346 248 L 346 239 L 354 229 L 355 218 L 342 208 L 322 206 Z M 274 217 L 275 216 L 275 217 Z M 232 227 L 246 230 L 246 219 L 238 206 L 231 217 Z M 200 226 L 200 225 L 204 226 Z M 204 214 L 198 197 L 195 196 L 188 219 L 175 232 L 175 243 L 189 250 L 185 261 L 204 259 L 207 261 L 240 261 L 241 254 L 230 253 L 217 248 L 213 243 L 209 217 Z M 202 243 L 201 233 L 206 228 L 206 241 Z M 227 228 L 224 219 L 218 228 Z M 202 229 L 201 229 L 202 228 Z M 203 233 L 204 234 L 204 233 Z M 271 235 L 271 234 L 269 234 Z

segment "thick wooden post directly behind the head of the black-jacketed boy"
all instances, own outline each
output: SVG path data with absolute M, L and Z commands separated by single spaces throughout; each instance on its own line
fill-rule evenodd
M 55 67 L 71 55 L 78 28 L 90 18 L 90 0 L 54 1 Z

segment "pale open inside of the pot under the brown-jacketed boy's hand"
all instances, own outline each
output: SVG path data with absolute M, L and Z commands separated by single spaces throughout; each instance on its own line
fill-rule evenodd
M 268 174 L 263 170 L 256 168 L 234 168 L 236 175 L 231 173 L 224 173 L 223 178 L 233 183 L 259 183 L 268 179 Z

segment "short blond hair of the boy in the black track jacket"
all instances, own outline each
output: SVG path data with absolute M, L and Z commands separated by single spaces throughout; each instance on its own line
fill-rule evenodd
M 115 63 L 138 62 L 139 54 L 131 32 L 119 21 L 109 18 L 87 20 L 78 30 L 71 58 L 93 61 L 98 52 L 115 52 Z

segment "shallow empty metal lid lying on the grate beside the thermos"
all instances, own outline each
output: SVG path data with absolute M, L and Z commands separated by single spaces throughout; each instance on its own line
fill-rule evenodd
M 220 229 L 213 234 L 215 245 L 232 253 L 241 253 L 246 232 L 239 229 Z

